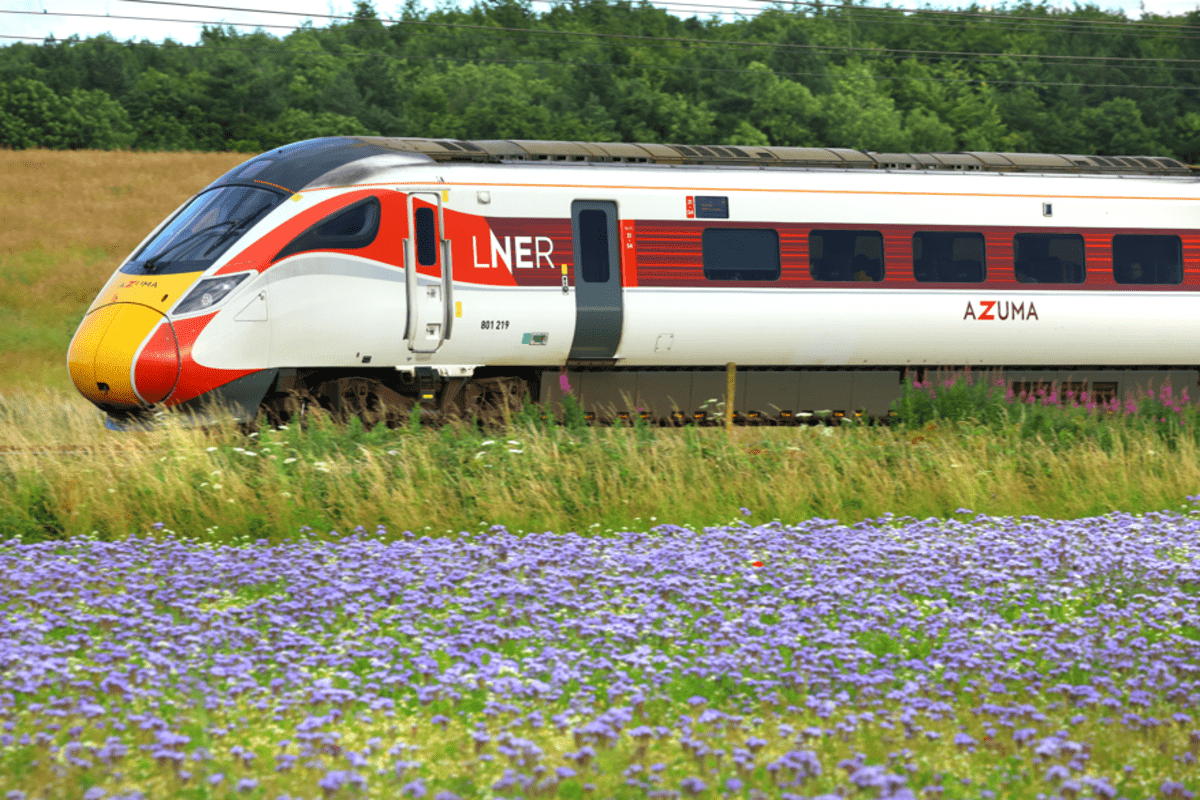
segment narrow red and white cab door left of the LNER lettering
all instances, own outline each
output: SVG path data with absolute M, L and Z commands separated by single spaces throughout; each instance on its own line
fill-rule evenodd
M 445 237 L 442 192 L 408 194 L 408 239 L 404 240 L 404 283 L 408 323 L 404 338 L 413 353 L 434 353 L 454 325 L 454 261 Z M 433 276 L 419 267 L 433 267 Z

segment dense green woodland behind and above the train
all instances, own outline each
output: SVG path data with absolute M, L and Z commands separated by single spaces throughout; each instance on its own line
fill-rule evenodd
M 1200 158 L 1200 12 L 788 4 L 722 22 L 522 0 L 275 36 L 0 48 L 0 146 L 238 150 L 318 136 Z

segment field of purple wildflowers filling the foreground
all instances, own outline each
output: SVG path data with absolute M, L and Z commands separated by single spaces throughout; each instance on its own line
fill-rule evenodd
M 8 541 L 0 798 L 1193 798 L 1200 512 L 959 517 Z

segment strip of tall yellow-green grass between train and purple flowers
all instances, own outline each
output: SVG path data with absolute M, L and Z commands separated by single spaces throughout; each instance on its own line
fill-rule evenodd
M 216 541 L 384 524 L 444 534 L 724 524 L 892 512 L 1069 518 L 1178 505 L 1200 487 L 1200 446 L 1123 416 L 1108 437 L 974 420 L 893 427 L 654 429 L 470 426 L 365 431 L 314 417 L 244 435 L 168 417 L 114 434 L 83 401 L 0 396 L 0 530 L 121 537 L 154 523 Z

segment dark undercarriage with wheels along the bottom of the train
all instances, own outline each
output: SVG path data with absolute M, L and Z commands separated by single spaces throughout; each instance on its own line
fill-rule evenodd
M 1050 395 L 1072 402 L 1124 401 L 1140 392 L 1171 386 L 1198 393 L 1200 371 L 1182 367 L 972 367 L 973 380 L 1003 380 L 1015 395 Z M 840 425 L 848 420 L 880 423 L 892 416 L 892 404 L 905 383 L 931 384 L 935 390 L 962 373 L 956 367 L 893 367 L 860 369 L 736 368 L 732 421 L 736 425 Z M 499 423 L 527 402 L 541 407 L 547 419 L 563 416 L 569 392 L 589 422 L 611 425 L 644 420 L 652 425 L 720 425 L 730 374 L 726 368 L 612 368 L 569 365 L 568 368 L 488 367 L 472 377 L 443 378 L 433 369 L 412 373 L 389 368 L 269 369 L 222 387 L 218 397 L 244 422 L 280 425 L 322 409 L 346 422 L 359 417 L 367 427 L 397 427 L 414 409 L 422 421 L 454 420 Z M 238 386 L 238 384 L 246 384 Z M 232 391 L 230 391 L 232 389 Z M 257 399 L 256 399 L 257 395 Z M 199 403 L 185 411 L 200 410 Z

